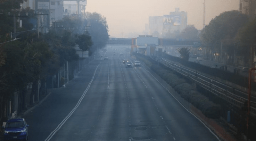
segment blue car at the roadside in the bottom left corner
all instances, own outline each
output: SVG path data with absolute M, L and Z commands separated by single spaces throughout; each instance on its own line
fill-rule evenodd
M 6 122 L 4 127 L 5 141 L 27 141 L 28 124 L 24 118 L 13 118 Z

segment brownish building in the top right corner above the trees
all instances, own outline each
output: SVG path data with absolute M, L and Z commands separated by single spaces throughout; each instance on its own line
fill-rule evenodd
M 249 16 L 250 20 L 256 18 L 256 0 L 239 0 L 239 11 Z

